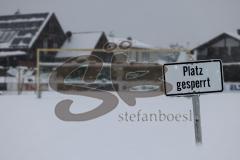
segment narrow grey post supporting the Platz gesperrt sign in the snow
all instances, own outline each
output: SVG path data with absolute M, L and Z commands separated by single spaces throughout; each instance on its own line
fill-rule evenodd
M 202 128 L 201 128 L 199 95 L 192 96 L 192 103 L 193 103 L 195 140 L 196 140 L 196 144 L 202 144 Z

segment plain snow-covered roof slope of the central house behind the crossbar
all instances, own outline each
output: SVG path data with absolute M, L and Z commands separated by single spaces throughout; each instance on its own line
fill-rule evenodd
M 64 49 L 94 49 L 102 36 L 103 32 L 80 32 L 80 33 L 73 33 L 71 38 L 65 41 L 62 48 Z M 76 57 L 79 55 L 89 55 L 91 54 L 90 51 L 86 52 L 66 52 L 66 51 L 60 51 L 58 52 L 57 56 L 58 58 L 66 58 L 66 57 Z

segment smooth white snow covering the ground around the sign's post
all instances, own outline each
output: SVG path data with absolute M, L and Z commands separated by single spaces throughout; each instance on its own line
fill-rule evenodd
M 188 113 L 191 99 L 158 96 L 137 99 L 135 107 L 122 100 L 112 112 L 87 122 L 64 122 L 54 114 L 63 99 L 74 100 L 72 112 L 100 101 L 43 93 L 0 96 L 0 159 L 2 160 L 238 160 L 240 158 L 240 93 L 202 95 L 203 144 L 195 145 L 192 121 L 122 122 L 121 113 Z

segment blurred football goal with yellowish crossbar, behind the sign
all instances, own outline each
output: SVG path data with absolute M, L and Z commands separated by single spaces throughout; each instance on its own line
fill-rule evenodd
M 188 50 L 104 49 L 37 50 L 36 91 L 162 91 L 162 65 L 186 61 Z M 75 88 L 73 88 L 75 86 Z

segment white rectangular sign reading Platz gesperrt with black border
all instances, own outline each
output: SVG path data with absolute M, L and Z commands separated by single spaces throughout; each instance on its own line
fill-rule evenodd
M 163 73 L 167 96 L 223 91 L 221 60 L 169 63 Z

